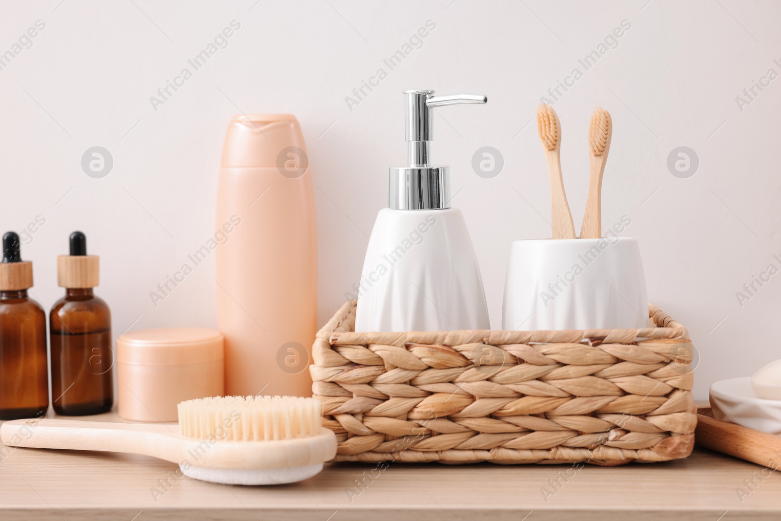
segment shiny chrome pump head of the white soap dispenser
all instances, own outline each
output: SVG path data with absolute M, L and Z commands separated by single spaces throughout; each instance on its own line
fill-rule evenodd
M 434 91 L 404 91 L 404 127 L 408 166 L 391 166 L 388 206 L 395 210 L 450 208 L 450 171 L 445 165 L 432 165 L 433 140 L 431 109 L 457 103 L 486 103 L 483 95 L 453 94 L 435 96 Z

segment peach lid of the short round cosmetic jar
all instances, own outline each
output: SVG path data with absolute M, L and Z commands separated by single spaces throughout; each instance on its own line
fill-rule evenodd
M 224 356 L 223 335 L 202 327 L 137 330 L 116 339 L 116 361 L 137 366 L 180 366 Z

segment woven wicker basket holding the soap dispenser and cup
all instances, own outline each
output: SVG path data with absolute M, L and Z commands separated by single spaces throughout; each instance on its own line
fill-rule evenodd
M 638 330 L 355 333 L 355 301 L 309 367 L 336 461 L 597 465 L 685 458 L 694 347 L 649 306 Z

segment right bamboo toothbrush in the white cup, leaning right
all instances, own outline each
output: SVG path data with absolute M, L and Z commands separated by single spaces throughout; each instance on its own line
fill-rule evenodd
M 610 141 L 613 136 L 613 121 L 607 110 L 597 106 L 591 115 L 588 129 L 590 180 L 586 214 L 580 227 L 581 239 L 602 237 L 602 175 L 604 163 L 608 162 Z

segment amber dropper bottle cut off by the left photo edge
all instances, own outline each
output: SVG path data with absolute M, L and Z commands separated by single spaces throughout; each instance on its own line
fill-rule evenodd
M 46 313 L 27 297 L 33 263 L 21 257 L 19 235 L 2 237 L 0 263 L 0 419 L 34 418 L 48 409 Z

